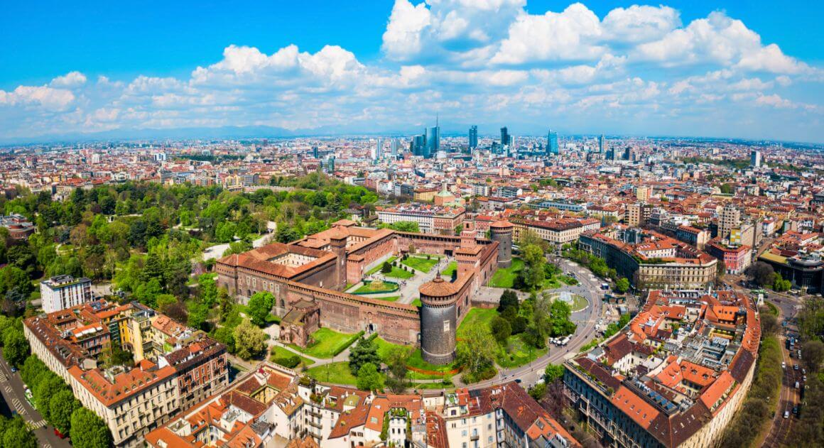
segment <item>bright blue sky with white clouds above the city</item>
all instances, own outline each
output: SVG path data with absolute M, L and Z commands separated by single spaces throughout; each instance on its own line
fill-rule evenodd
M 824 142 L 819 2 L 117 3 L 0 5 L 0 141 L 438 114 L 444 133 Z

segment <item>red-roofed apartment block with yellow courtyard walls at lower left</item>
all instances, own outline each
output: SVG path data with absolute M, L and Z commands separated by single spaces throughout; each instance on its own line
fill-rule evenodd
M 226 348 L 201 331 L 132 302 L 91 301 L 23 321 L 31 352 L 109 427 L 115 446 L 143 437 L 228 384 Z M 105 364 L 112 344 L 134 365 Z

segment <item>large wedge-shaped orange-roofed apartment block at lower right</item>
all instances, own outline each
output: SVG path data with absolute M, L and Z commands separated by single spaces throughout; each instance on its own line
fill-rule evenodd
M 733 291 L 652 291 L 626 331 L 564 362 L 564 397 L 604 446 L 714 446 L 749 390 L 761 326 Z

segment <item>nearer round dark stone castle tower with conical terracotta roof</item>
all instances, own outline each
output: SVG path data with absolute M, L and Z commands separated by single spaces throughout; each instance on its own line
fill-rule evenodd
M 455 360 L 457 291 L 440 276 L 421 285 L 420 352 L 424 361 L 448 364 Z

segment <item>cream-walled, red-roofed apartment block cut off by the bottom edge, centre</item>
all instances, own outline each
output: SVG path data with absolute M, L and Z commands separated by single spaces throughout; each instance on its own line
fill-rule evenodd
M 579 446 L 510 382 L 435 396 L 322 385 L 265 362 L 221 394 L 180 413 L 147 446 Z

